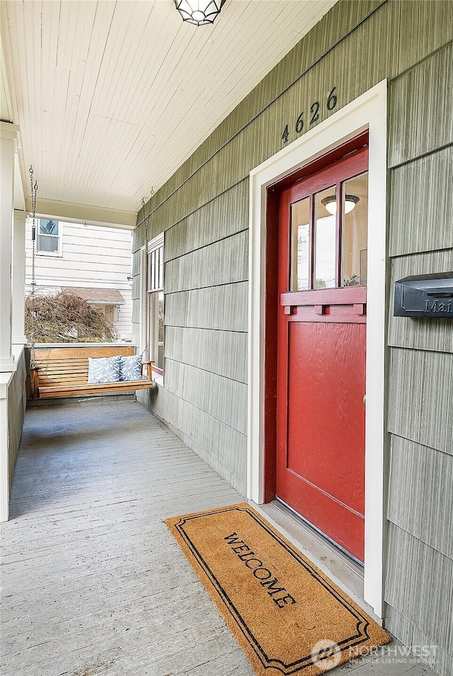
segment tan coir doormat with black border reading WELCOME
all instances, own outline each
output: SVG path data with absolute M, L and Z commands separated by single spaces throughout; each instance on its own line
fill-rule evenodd
M 391 640 L 247 503 L 166 524 L 258 676 L 319 675 Z

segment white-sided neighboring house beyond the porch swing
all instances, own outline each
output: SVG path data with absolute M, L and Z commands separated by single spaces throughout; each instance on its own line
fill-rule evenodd
M 32 281 L 32 219 L 26 223 L 25 293 Z M 36 293 L 68 290 L 110 317 L 117 339 L 132 339 L 129 230 L 36 218 Z M 129 278 L 129 279 L 128 279 Z

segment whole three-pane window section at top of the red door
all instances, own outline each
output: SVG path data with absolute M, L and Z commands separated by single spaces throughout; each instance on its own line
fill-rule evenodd
M 367 164 L 363 146 L 291 189 L 290 291 L 366 286 Z

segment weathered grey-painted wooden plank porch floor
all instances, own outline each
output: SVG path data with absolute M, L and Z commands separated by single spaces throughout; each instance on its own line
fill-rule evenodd
M 28 409 L 2 528 L 2 676 L 253 676 L 164 523 L 241 500 L 137 402 Z M 432 673 L 388 651 L 332 673 Z

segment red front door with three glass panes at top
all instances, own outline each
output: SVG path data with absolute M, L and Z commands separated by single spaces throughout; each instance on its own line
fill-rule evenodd
M 367 146 L 280 196 L 277 497 L 364 558 Z

